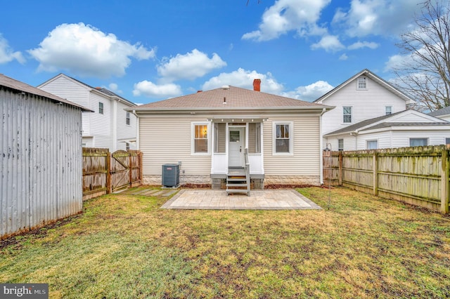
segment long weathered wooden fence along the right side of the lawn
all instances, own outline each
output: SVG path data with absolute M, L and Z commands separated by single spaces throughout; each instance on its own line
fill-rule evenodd
M 449 145 L 323 152 L 323 182 L 449 213 Z

